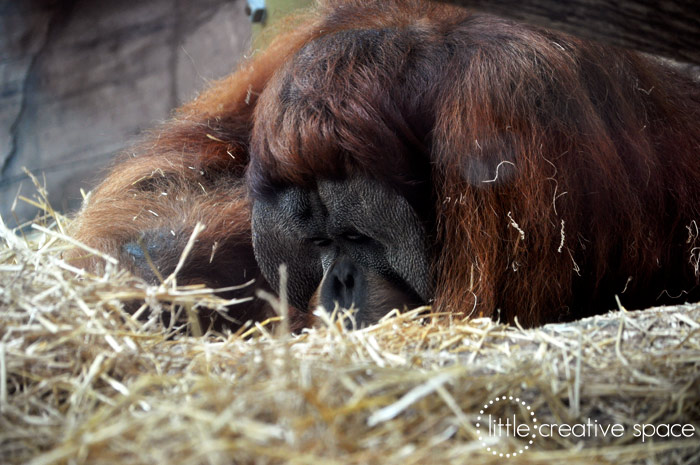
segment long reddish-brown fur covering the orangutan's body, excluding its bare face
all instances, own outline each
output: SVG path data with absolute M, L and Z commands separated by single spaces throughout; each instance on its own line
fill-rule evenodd
M 406 195 L 438 310 L 538 324 L 614 294 L 697 298 L 699 119 L 698 86 L 632 52 L 429 2 L 325 1 L 117 165 L 77 235 L 119 255 L 201 221 L 193 274 L 216 241 L 226 263 L 247 255 L 252 129 L 256 194 L 362 173 Z

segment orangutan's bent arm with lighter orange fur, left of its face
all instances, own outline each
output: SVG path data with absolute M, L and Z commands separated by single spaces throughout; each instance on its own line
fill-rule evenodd
M 173 253 L 163 264 L 167 276 L 199 222 L 205 229 L 178 275 L 179 284 L 221 288 L 257 281 L 227 297 L 246 297 L 256 288 L 266 288 L 253 256 L 250 208 L 242 179 L 252 111 L 272 72 L 306 35 L 303 28 L 288 33 L 285 40 L 215 83 L 125 153 L 91 193 L 73 223 L 73 235 L 138 272 L 123 246 L 147 231 L 172 231 Z M 92 269 L 103 264 L 77 249 L 68 258 Z M 256 300 L 232 306 L 230 314 L 244 322 L 271 316 L 271 310 Z M 305 315 L 294 318 L 296 327 L 307 323 Z

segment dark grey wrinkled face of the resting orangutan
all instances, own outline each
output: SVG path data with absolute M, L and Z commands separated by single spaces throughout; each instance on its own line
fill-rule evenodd
M 287 187 L 253 203 L 253 247 L 273 287 L 288 269 L 297 308 L 355 309 L 358 326 L 428 302 L 427 241 L 406 199 L 367 178 Z

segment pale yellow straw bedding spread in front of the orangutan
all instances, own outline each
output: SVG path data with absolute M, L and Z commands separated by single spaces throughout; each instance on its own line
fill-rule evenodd
M 3 463 L 700 461 L 698 305 L 533 330 L 415 311 L 354 332 L 323 317 L 299 336 L 258 324 L 195 338 L 159 313 L 221 305 L 211 291 L 72 269 L 66 220 L 47 218 L 31 237 L 0 225 Z M 124 312 L 134 298 L 151 317 Z M 522 443 L 478 439 L 479 412 L 505 412 L 497 398 L 525 421 L 624 434 L 539 437 L 506 459 L 494 452 Z M 645 423 L 695 433 L 642 442 Z

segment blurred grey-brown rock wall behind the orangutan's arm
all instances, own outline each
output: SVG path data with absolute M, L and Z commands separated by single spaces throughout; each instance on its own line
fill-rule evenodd
M 75 210 L 112 157 L 207 81 L 228 74 L 250 41 L 244 0 L 0 2 L 0 214 L 22 171 L 46 174 L 52 205 Z M 35 209 L 18 202 L 20 221 Z

